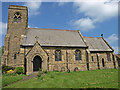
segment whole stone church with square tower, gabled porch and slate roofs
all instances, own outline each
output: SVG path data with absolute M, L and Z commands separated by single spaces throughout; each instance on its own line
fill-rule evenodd
M 28 9 L 9 6 L 2 65 L 24 67 L 27 75 L 42 71 L 118 68 L 113 48 L 101 37 L 79 30 L 28 28 Z

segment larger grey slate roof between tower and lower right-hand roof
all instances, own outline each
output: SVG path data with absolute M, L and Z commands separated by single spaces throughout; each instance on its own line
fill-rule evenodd
M 33 46 L 36 36 L 41 46 L 87 47 L 75 30 L 28 28 L 23 46 Z

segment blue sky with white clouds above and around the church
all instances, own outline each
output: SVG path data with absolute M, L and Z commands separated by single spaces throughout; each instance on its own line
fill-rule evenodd
M 103 37 L 118 52 L 118 3 L 113 0 L 80 2 L 2 2 L 0 47 L 7 32 L 9 5 L 28 7 L 28 27 L 80 30 L 83 36 Z M 116 0 L 117 1 L 117 0 Z M 1 26 L 2 25 L 2 26 Z

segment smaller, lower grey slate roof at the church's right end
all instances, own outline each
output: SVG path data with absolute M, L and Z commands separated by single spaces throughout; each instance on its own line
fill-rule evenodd
M 84 37 L 90 51 L 112 51 L 101 37 Z

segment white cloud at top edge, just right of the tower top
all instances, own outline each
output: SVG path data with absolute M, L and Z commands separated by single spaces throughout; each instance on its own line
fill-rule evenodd
M 41 6 L 41 2 L 27 2 L 24 6 L 28 7 L 29 16 L 38 15 L 40 13 L 39 8 Z

